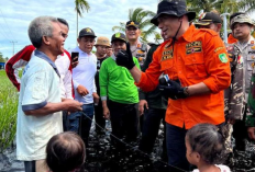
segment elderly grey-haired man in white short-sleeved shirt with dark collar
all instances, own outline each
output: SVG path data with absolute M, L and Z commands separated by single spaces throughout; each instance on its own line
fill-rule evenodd
M 16 121 L 16 158 L 25 172 L 45 172 L 47 141 L 63 131 L 62 112 L 81 110 L 81 103 L 60 98 L 60 74 L 54 64 L 65 38 L 56 18 L 38 16 L 29 26 L 36 48 L 21 79 Z

